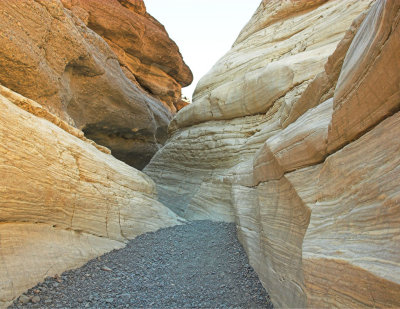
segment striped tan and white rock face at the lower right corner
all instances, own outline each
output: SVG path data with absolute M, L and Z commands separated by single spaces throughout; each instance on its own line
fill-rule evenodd
M 286 175 L 311 210 L 302 247 L 310 307 L 399 306 L 399 133 L 397 113 L 324 163 Z

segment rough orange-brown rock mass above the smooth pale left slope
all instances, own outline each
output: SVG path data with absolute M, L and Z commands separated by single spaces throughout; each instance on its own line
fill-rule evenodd
M 143 1 L 1 1 L 0 16 L 0 83 L 142 168 L 192 80 Z

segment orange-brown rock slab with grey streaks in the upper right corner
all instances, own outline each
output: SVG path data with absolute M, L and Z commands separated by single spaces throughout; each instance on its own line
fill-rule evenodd
M 378 1 L 354 38 L 335 90 L 329 152 L 400 109 L 400 3 Z

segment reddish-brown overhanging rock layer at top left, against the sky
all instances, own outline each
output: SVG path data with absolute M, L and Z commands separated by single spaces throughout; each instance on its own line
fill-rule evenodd
M 193 76 L 183 62 L 178 47 L 163 25 L 146 12 L 143 1 L 62 2 L 73 12 L 85 11 L 88 27 L 111 46 L 126 75 L 160 99 L 172 112 L 176 111 L 181 87 L 188 86 Z

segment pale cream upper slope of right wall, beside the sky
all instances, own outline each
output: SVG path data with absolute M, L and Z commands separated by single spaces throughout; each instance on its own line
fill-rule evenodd
M 202 77 L 195 104 L 177 114 L 171 127 L 265 113 L 323 71 L 344 32 L 371 2 L 263 1 L 249 25 L 259 23 L 260 14 L 270 16 L 268 22 L 237 41 Z

